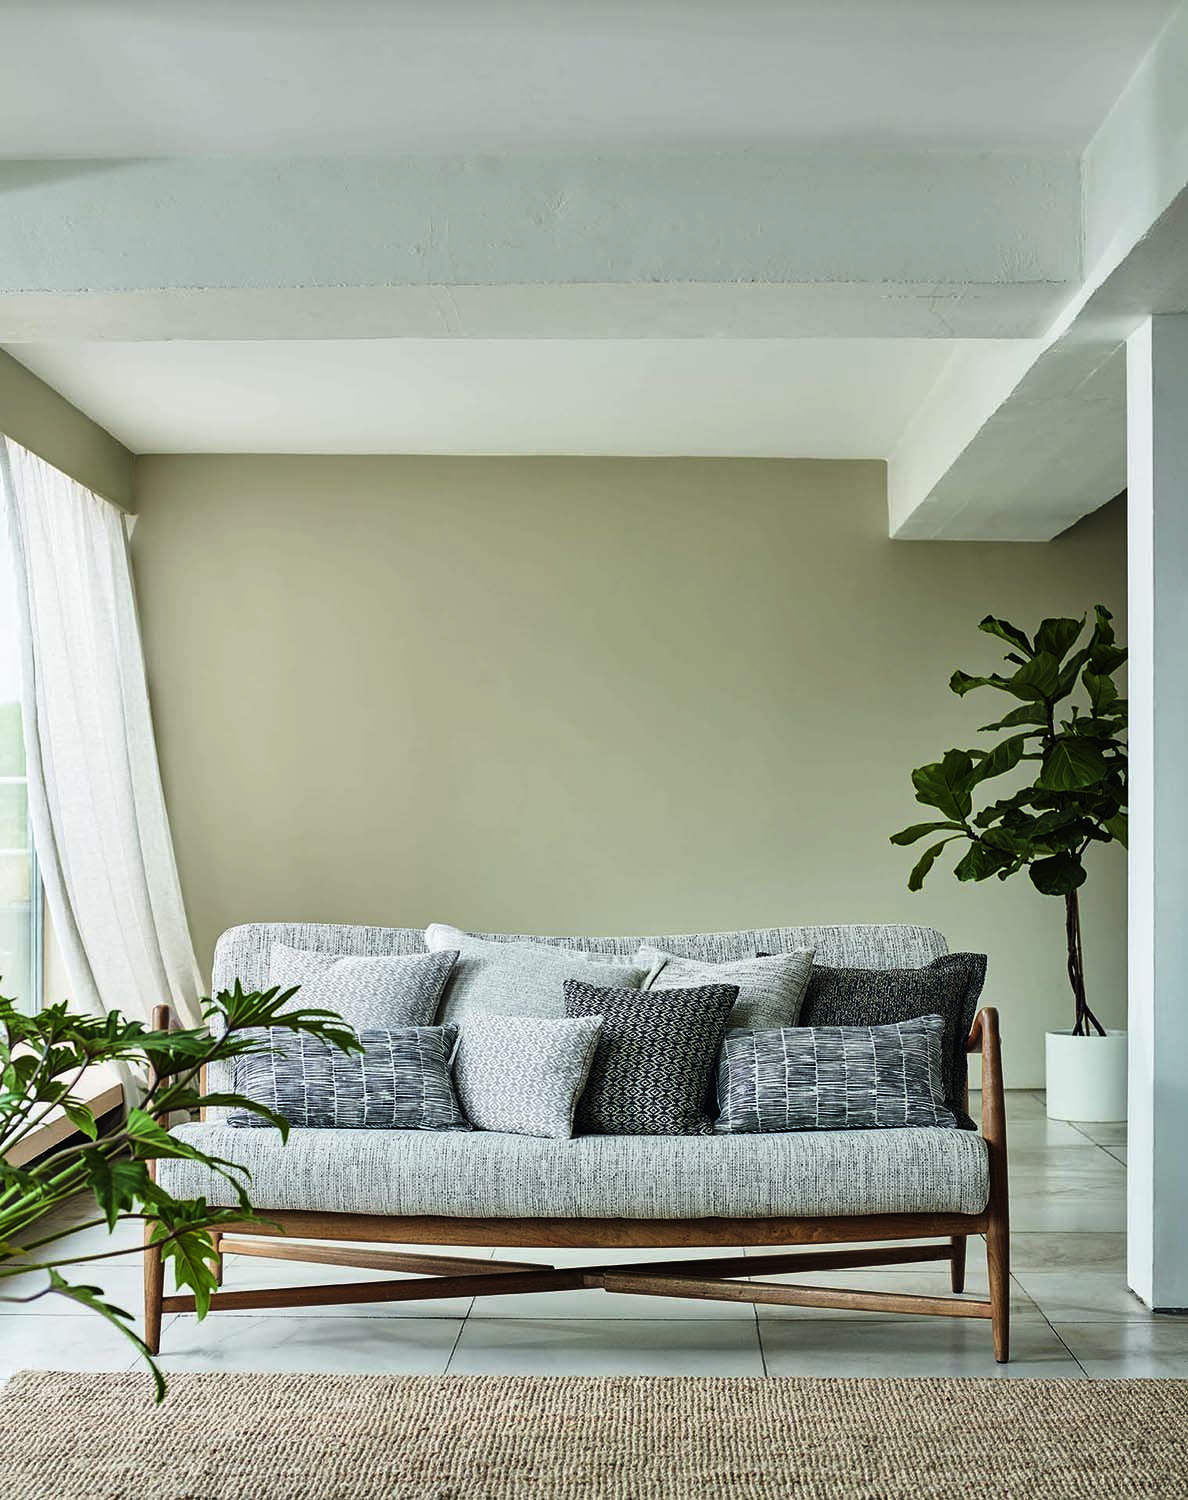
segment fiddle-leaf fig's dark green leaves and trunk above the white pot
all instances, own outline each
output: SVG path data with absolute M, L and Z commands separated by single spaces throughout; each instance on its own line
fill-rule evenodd
M 1006 880 L 1026 870 L 1036 891 L 1064 897 L 1074 1036 L 1106 1035 L 1084 998 L 1078 898 L 1084 855 L 1094 844 L 1126 842 L 1126 700 L 1113 681 L 1126 652 L 1114 642 L 1112 620 L 1098 604 L 1088 639 L 1084 616 L 1044 620 L 1029 638 L 1018 626 L 987 615 L 978 628 L 1006 642 L 1012 670 L 954 672 L 950 688 L 964 698 L 992 687 L 1016 699 L 1017 708 L 980 730 L 1005 738 L 988 748 L 946 750 L 912 771 L 916 801 L 940 818 L 891 836 L 894 844 L 914 844 L 942 834 L 916 860 L 908 878 L 912 891 L 922 886 L 946 844 L 956 843 L 963 846 L 952 872 L 958 880 L 992 874 Z M 1012 777 L 1005 795 L 990 786 L 1018 771 L 1026 778 Z M 975 798 L 987 795 L 993 800 L 975 810 Z

